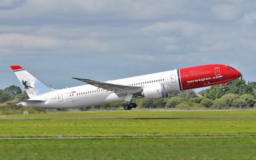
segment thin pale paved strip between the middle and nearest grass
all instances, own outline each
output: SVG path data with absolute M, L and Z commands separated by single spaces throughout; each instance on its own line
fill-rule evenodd
M 256 136 L 162 136 L 162 137 L 14 137 L 14 138 L 0 138 L 0 140 L 20 140 L 20 139 L 90 139 L 90 138 L 248 138 Z

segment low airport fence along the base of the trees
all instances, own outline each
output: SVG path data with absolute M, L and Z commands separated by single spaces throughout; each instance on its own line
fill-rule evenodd
M 162 111 L 162 112 L 170 112 L 170 111 L 217 111 L 217 110 L 256 110 L 256 107 L 143 107 L 143 108 L 132 108 L 131 110 L 124 110 L 123 107 L 100 107 L 100 108 L 93 108 L 93 107 L 87 107 L 87 108 L 78 108 L 78 109 L 63 109 L 63 110 L 47 110 L 47 113 L 52 113 L 52 112 L 125 112 L 125 111 L 132 111 L 132 112 L 156 112 L 156 111 Z

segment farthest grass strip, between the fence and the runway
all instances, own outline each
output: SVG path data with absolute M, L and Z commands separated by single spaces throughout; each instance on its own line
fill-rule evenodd
M 256 117 L 256 110 L 172 112 L 64 112 L 52 114 L 0 115 L 0 118 L 166 118 L 166 117 Z

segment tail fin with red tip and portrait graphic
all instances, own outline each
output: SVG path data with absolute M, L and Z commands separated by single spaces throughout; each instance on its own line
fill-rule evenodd
M 28 94 L 29 98 L 39 96 L 44 93 L 53 91 L 50 86 L 46 85 L 44 82 L 30 74 L 28 71 L 24 70 L 21 66 L 11 66 L 18 80 L 23 86 L 23 89 Z

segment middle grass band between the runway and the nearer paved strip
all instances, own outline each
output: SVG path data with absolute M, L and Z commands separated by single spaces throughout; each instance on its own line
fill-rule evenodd
M 256 136 L 256 120 L 1 120 L 0 137 Z

